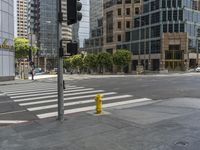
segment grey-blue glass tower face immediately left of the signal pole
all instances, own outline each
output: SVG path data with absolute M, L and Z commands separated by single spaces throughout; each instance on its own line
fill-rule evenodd
M 57 13 L 55 0 L 40 1 L 39 45 L 41 56 L 55 56 L 57 50 Z

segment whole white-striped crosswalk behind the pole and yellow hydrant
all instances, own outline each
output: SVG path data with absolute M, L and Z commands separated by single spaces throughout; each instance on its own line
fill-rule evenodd
M 37 118 L 44 119 L 57 116 L 56 87 L 56 84 L 52 83 L 32 83 L 28 86 L 0 87 L 0 91 Z M 64 114 L 95 110 L 96 94 L 103 95 L 103 108 L 151 101 L 149 98 L 136 98 L 133 95 L 119 94 L 114 91 L 68 85 L 64 91 Z

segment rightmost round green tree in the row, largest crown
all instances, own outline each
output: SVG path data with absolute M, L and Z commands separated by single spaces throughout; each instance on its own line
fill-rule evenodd
M 123 72 L 125 66 L 131 62 L 131 52 L 124 49 L 117 50 L 113 55 L 113 63 Z

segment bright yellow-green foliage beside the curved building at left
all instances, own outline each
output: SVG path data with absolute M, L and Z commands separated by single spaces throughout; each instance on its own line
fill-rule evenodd
M 15 38 L 15 56 L 16 58 L 27 58 L 29 54 L 29 40 L 25 38 Z

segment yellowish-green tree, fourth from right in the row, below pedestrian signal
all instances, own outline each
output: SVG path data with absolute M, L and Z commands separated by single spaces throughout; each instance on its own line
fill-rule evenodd
M 71 60 L 72 67 L 77 69 L 80 72 L 80 69 L 83 67 L 83 58 L 81 54 L 74 55 Z

